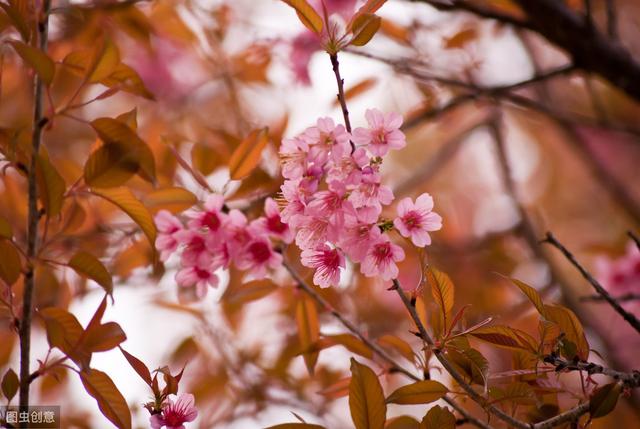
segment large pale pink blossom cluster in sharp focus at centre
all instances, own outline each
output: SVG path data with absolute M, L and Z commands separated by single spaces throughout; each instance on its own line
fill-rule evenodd
M 429 232 L 442 226 L 433 199 L 420 195 L 400 200 L 394 219 L 383 217 L 394 202 L 382 183 L 380 166 L 390 150 L 406 145 L 402 117 L 367 110 L 368 127 L 353 133 L 330 118 L 285 139 L 280 148 L 284 207 L 282 220 L 295 233 L 302 264 L 314 268 L 314 283 L 338 284 L 345 257 L 360 264 L 367 277 L 391 280 L 404 251 L 391 241 L 396 230 L 417 247 L 431 243 Z

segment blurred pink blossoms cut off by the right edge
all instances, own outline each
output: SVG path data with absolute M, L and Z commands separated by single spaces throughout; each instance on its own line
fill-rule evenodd
M 621 257 L 601 257 L 596 260 L 597 277 L 600 283 L 616 298 L 627 294 L 640 294 L 640 249 L 630 241 Z M 622 302 L 622 305 L 640 315 L 637 300 Z

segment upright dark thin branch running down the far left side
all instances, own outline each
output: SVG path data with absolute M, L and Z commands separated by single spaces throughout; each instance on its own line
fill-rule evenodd
M 49 11 L 51 0 L 44 0 L 42 10 L 38 15 L 37 34 L 38 49 L 47 51 Z M 29 363 L 31 359 L 31 317 L 33 310 L 33 294 L 35 289 L 35 267 L 33 258 L 36 255 L 38 245 L 38 190 L 36 182 L 36 165 L 40 142 L 42 140 L 42 130 L 46 125 L 46 118 L 43 117 L 43 95 L 44 85 L 40 76 L 34 76 L 33 90 L 33 133 L 31 136 L 31 162 L 28 176 L 28 219 L 27 219 L 27 272 L 24 278 L 24 293 L 22 299 L 22 318 L 20 320 L 20 411 L 26 411 L 29 406 Z M 20 427 L 26 427 L 26 423 L 21 423 Z

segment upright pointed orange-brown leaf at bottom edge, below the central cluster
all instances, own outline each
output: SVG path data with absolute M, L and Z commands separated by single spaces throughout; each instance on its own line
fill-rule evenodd
M 351 358 L 349 410 L 356 429 L 383 429 L 387 404 L 378 376 L 366 365 Z

